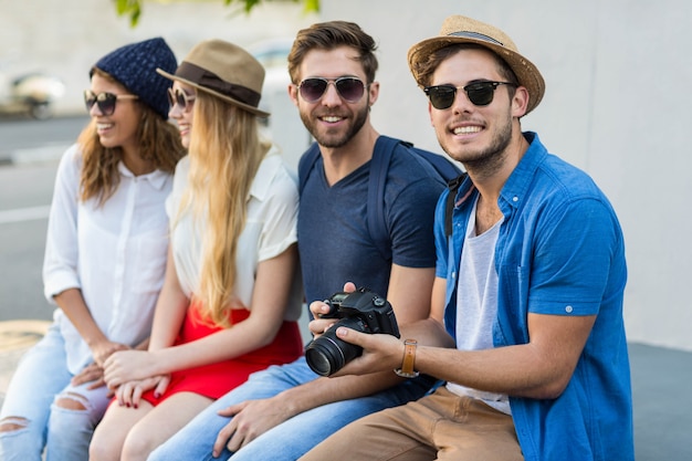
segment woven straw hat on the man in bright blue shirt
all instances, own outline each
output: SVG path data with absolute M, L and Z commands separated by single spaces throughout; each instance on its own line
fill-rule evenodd
M 526 114 L 541 103 L 543 94 L 545 93 L 545 82 L 538 69 L 518 53 L 512 39 L 503 31 L 463 15 L 451 15 L 447 18 L 442 23 L 442 29 L 438 36 L 423 40 L 409 50 L 409 67 L 418 85 L 424 85 L 424 83 L 421 82 L 420 64 L 428 59 L 430 53 L 457 43 L 476 43 L 485 46 L 502 57 L 510 67 L 512 67 L 518 78 L 520 85 L 525 86 L 528 91 L 528 107 L 526 107 Z

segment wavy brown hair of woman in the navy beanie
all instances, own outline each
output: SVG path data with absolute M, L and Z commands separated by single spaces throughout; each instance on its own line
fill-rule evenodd
M 98 69 L 95 69 L 94 73 L 119 84 L 109 74 Z M 138 102 L 135 101 L 135 103 Z M 185 155 L 180 134 L 153 108 L 146 104 L 140 104 L 140 107 L 141 118 L 137 128 L 139 156 L 144 160 L 151 161 L 156 169 L 172 175 L 176 164 Z M 101 144 L 94 118 L 80 134 L 77 144 L 82 149 L 83 158 L 80 198 L 82 201 L 96 198 L 98 205 L 103 205 L 115 193 L 120 182 L 117 166 L 123 159 L 123 148 L 104 147 Z

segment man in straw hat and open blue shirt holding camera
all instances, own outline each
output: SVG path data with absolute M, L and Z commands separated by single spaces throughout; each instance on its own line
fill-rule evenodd
M 337 328 L 364 348 L 338 376 L 397 369 L 447 385 L 347 426 L 301 461 L 633 460 L 622 231 L 584 171 L 522 133 L 541 73 L 504 32 L 461 15 L 408 59 L 440 145 L 469 177 L 453 210 L 443 192 L 436 211 L 431 317 L 402 328 L 405 343 Z M 455 348 L 416 336 L 439 332 L 440 317 Z

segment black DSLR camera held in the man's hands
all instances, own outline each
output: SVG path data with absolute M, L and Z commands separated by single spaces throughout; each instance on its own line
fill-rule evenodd
M 321 317 L 342 319 L 305 347 L 305 360 L 318 375 L 329 376 L 363 354 L 361 347 L 336 336 L 336 328 L 339 326 L 399 337 L 399 326 L 391 304 L 367 289 L 358 289 L 353 293 L 335 293 L 325 303 L 329 305 L 329 312 Z

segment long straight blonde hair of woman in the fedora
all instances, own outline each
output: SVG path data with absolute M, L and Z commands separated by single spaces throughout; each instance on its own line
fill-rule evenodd
M 197 92 L 190 135 L 190 171 L 177 219 L 191 210 L 202 221 L 199 292 L 207 321 L 230 327 L 228 311 L 237 280 L 238 239 L 245 227 L 247 200 L 269 144 L 260 142 L 258 121 L 234 105 Z

